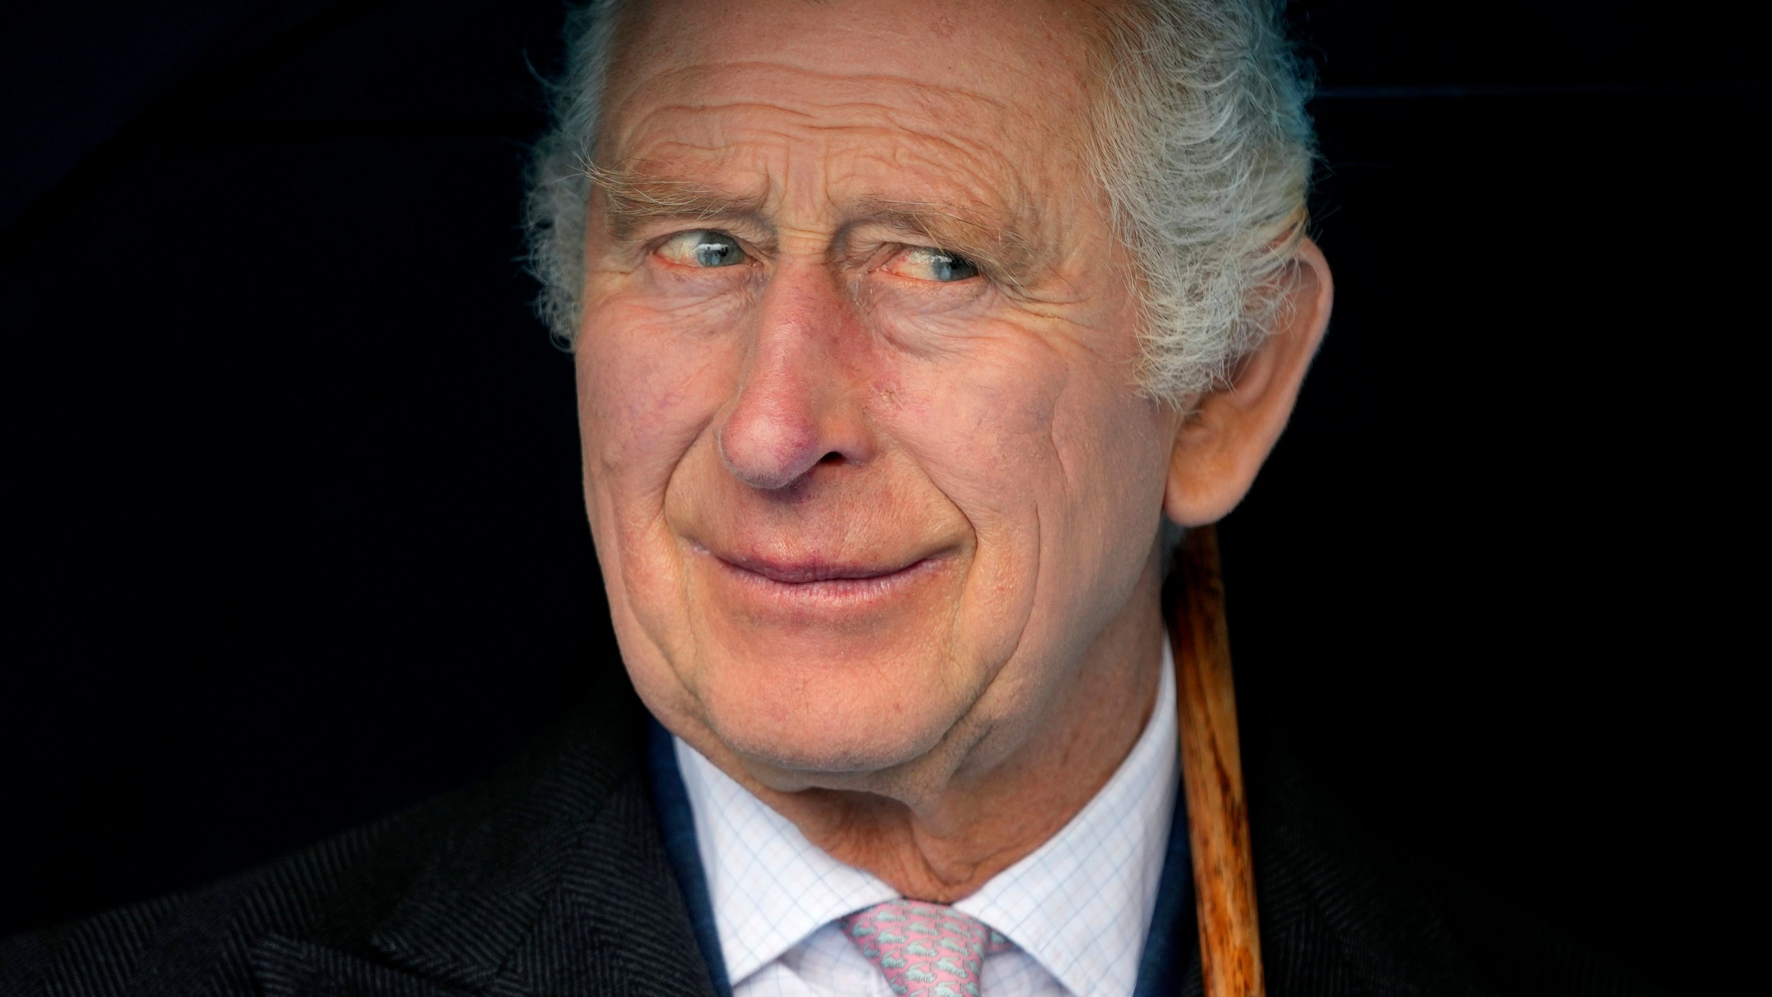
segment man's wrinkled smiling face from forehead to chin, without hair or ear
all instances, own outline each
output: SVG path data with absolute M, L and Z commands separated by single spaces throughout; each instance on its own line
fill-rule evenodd
M 661 4 L 578 378 L 629 671 L 778 772 L 1026 724 L 1150 584 L 1175 415 L 1084 163 L 1084 5 Z M 1067 692 L 1070 690 L 1070 692 Z

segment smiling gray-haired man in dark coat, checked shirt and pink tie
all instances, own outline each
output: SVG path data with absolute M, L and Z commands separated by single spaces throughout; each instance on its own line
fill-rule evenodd
M 1198 992 L 1164 564 L 1331 307 L 1274 11 L 677 0 L 567 37 L 530 220 L 638 703 L 7 942 L 0 992 Z M 1251 800 L 1278 993 L 1621 992 L 1271 750 Z

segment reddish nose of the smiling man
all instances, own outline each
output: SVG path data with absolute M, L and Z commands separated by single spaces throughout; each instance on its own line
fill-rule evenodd
M 867 341 L 835 275 L 813 264 L 783 266 L 753 321 L 744 378 L 716 436 L 727 470 L 774 491 L 820 463 L 872 459 L 859 399 Z

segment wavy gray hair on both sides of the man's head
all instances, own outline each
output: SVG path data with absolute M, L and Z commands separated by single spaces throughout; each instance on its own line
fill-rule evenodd
M 525 225 L 537 310 L 571 348 L 611 39 L 641 0 L 567 16 L 567 71 L 535 145 Z M 1131 0 L 1102 11 L 1088 161 L 1136 261 L 1139 385 L 1185 404 L 1228 381 L 1281 307 L 1308 224 L 1310 83 L 1278 0 Z

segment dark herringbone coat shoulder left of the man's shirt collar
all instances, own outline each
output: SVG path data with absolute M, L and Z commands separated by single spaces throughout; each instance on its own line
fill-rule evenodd
M 530 965 L 540 938 L 615 953 L 618 926 L 594 924 L 576 894 L 627 885 L 645 889 L 615 915 L 693 960 L 638 710 L 597 697 L 486 782 L 197 891 L 0 940 L 0 997 L 468 993 L 549 972 Z

